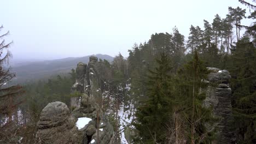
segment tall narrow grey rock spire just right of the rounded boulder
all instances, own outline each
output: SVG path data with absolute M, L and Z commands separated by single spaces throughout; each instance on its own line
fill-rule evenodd
M 86 64 L 79 63 L 78 67 L 79 65 Z M 73 98 L 76 99 L 76 101 L 75 103 L 71 103 L 71 106 L 75 107 L 72 112 L 73 117 L 88 117 L 92 119 L 92 121 L 85 125 L 83 129 L 79 130 L 83 132 L 83 143 L 97 143 L 98 141 L 99 143 L 117 143 L 115 141 L 113 127 L 101 110 L 102 76 L 100 71 L 101 64 L 98 62 L 98 58 L 93 56 L 90 57 L 88 66 L 84 68 L 82 68 L 83 73 L 81 73 L 83 80 L 79 79 L 79 82 L 83 83 L 83 91 L 79 92 L 83 93 L 83 95 L 81 97 Z M 72 89 L 74 89 L 73 87 Z M 72 92 L 74 91 L 72 90 Z

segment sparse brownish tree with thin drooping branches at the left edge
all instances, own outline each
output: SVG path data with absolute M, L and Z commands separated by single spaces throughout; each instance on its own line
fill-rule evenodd
M 0 32 L 3 26 L 0 27 Z M 6 43 L 5 32 L 0 35 L 0 143 L 15 143 L 16 133 L 19 130 L 18 106 L 22 103 L 21 94 L 24 91 L 19 85 L 13 85 L 11 80 L 15 74 L 7 68 L 11 52 L 10 43 Z

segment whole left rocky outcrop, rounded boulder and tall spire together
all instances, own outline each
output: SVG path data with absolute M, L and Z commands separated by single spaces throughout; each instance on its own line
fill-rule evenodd
M 69 113 L 67 105 L 59 101 L 45 106 L 38 122 L 38 143 L 117 143 L 113 127 L 101 110 L 101 67 L 97 57 L 90 57 L 88 65 L 77 64 L 71 88 L 73 111 Z M 90 119 L 90 122 L 80 128 L 79 118 Z

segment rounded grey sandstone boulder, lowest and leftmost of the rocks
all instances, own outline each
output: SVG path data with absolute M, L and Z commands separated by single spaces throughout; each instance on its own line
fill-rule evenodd
M 69 115 L 67 105 L 60 101 L 45 106 L 37 124 L 37 142 L 81 143 L 83 134 L 75 127 L 76 119 Z

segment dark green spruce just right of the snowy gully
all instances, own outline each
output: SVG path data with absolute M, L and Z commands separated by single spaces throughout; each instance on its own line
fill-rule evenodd
M 148 99 L 141 103 L 136 112 L 135 124 L 143 143 L 162 143 L 165 140 L 166 123 L 171 109 L 171 67 L 166 53 L 157 59 L 158 67 L 149 70 Z

